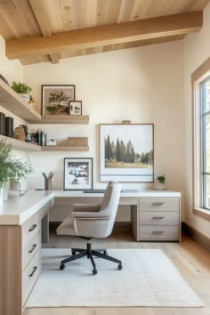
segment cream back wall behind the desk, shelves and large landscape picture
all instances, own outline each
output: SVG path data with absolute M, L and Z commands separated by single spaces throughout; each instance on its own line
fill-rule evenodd
M 182 115 L 182 41 L 156 44 L 117 52 L 40 63 L 24 67 L 24 81 L 33 87 L 41 103 L 41 85 L 76 85 L 76 98 L 83 101 L 89 125 L 37 125 L 58 140 L 88 136 L 89 152 L 32 153 L 36 174 L 30 187 L 43 188 L 42 172 L 55 172 L 53 189 L 62 189 L 63 158 L 93 157 L 94 188 L 99 182 L 99 124 L 155 124 L 155 177 L 166 174 L 167 189 L 184 192 L 184 121 Z M 153 184 L 124 183 L 124 188 L 145 189 Z M 184 194 L 183 194 L 184 195 Z M 120 212 L 120 220 L 130 219 Z

